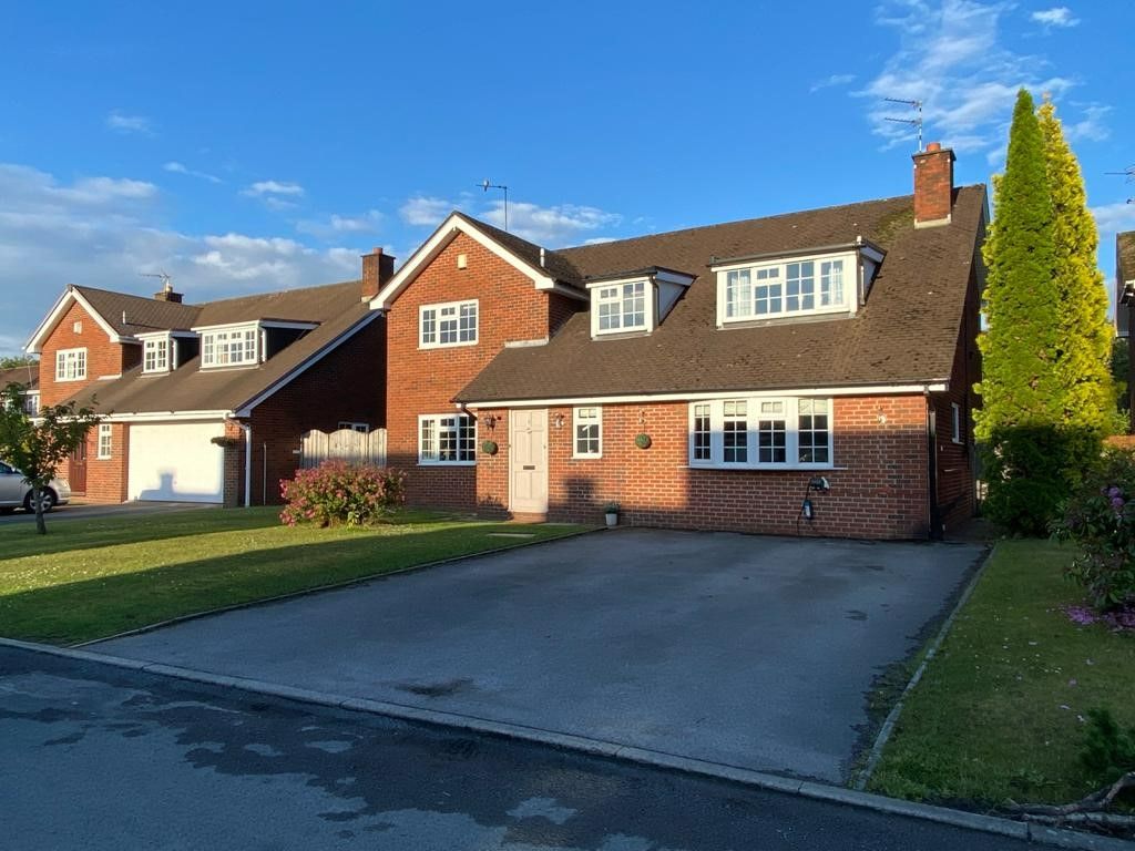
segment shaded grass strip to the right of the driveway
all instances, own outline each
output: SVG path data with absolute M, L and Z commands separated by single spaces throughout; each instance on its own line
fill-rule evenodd
M 922 682 L 869 789 L 975 807 L 1079 799 L 1088 709 L 1135 723 L 1135 635 L 1073 624 L 1070 546 L 1002 541 Z

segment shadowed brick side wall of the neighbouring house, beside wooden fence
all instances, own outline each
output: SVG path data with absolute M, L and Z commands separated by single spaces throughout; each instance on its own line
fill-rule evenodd
M 382 428 L 385 370 L 386 321 L 379 317 L 253 408 L 252 505 L 280 502 L 280 480 L 295 475 L 300 463 L 296 453 L 305 431 L 335 431 L 339 422 Z M 242 470 L 242 485 L 243 480 Z

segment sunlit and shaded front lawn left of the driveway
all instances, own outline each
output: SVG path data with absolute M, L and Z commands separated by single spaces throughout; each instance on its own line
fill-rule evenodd
M 74 644 L 239 603 L 583 529 L 404 511 L 389 525 L 288 529 L 277 508 L 202 508 L 0 528 L 0 635 Z M 531 538 L 494 537 L 494 533 Z

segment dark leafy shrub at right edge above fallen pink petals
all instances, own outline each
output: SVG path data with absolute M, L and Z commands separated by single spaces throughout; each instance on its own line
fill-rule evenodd
M 1087 590 L 1098 609 L 1116 609 L 1135 601 L 1135 455 L 1108 449 L 1086 483 L 1068 500 L 1063 517 L 1053 524 L 1061 540 L 1075 541 L 1082 553 L 1067 575 Z

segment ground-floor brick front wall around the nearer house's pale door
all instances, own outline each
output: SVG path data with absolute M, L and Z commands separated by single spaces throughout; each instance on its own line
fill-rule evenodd
M 562 428 L 555 427 L 563 415 Z M 487 420 L 497 418 L 489 430 Z M 508 412 L 481 411 L 479 438 L 495 456 L 478 455 L 477 500 L 501 515 L 508 503 Z M 549 508 L 554 520 L 600 522 L 604 503 L 622 504 L 634 525 L 794 534 L 815 471 L 697 470 L 688 464 L 687 403 L 603 406 L 603 457 L 572 458 L 572 408 L 548 411 Z M 813 494 L 815 520 L 802 534 L 924 538 L 928 521 L 926 402 L 922 396 L 834 399 L 839 469 L 821 471 L 827 494 Z M 634 436 L 645 431 L 649 449 Z

